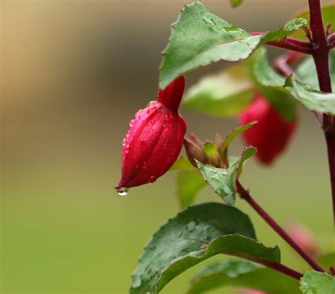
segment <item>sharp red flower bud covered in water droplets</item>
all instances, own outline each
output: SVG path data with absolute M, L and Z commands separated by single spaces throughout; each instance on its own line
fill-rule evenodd
M 184 92 L 184 77 L 158 91 L 157 101 L 139 110 L 124 138 L 122 177 L 116 189 L 153 183 L 176 161 L 186 132 L 178 106 Z

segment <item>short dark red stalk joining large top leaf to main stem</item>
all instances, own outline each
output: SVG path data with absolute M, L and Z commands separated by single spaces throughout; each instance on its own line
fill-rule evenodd
M 266 32 L 249 32 L 252 36 L 265 36 Z M 267 42 L 266 45 L 274 46 L 278 48 L 283 48 L 291 51 L 296 51 L 304 54 L 312 54 L 312 45 L 305 41 L 300 41 L 299 39 L 293 39 L 286 37 L 279 41 Z

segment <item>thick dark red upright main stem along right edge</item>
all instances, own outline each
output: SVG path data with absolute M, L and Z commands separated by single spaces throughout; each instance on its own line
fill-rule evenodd
M 331 49 L 331 37 L 327 39 L 322 20 L 322 8 L 320 0 L 308 0 L 310 6 L 310 30 L 313 37 L 312 56 L 317 68 L 319 89 L 322 92 L 331 93 L 331 78 L 329 73 L 329 51 Z M 330 42 L 329 42 L 330 40 Z M 324 114 L 323 125 L 326 137 L 329 171 L 331 180 L 331 195 L 333 200 L 333 217 L 335 226 L 335 118 Z

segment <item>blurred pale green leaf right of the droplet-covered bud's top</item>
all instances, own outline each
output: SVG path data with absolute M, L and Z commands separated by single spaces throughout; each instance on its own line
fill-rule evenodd
M 212 116 L 234 116 L 252 101 L 253 88 L 242 66 L 199 80 L 185 94 L 182 104 Z

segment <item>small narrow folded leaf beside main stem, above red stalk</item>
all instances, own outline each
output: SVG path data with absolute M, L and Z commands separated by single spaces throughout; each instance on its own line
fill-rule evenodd
M 260 44 L 266 44 L 267 42 L 276 41 L 278 39 L 283 39 L 292 35 L 293 32 L 299 30 L 301 27 L 305 27 L 308 24 L 308 20 L 305 18 L 295 18 L 290 20 L 283 27 L 278 28 L 277 30 L 272 30 L 266 34 L 266 36 L 261 39 Z

